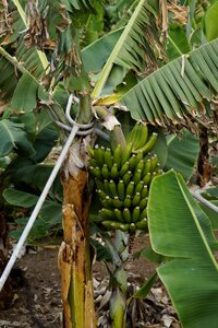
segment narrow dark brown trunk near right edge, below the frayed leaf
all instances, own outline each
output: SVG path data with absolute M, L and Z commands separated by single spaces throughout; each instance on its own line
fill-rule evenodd
M 209 164 L 209 143 L 207 129 L 199 127 L 199 155 L 197 161 L 197 184 L 204 187 L 211 177 L 211 165 Z

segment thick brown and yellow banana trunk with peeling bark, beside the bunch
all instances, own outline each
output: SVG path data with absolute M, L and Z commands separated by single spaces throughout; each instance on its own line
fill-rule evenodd
M 62 276 L 63 328 L 96 327 L 89 251 L 88 172 L 85 165 L 81 168 L 76 164 L 78 157 L 81 163 L 86 163 L 87 154 L 81 149 L 78 144 L 71 149 L 62 172 L 63 242 L 59 266 Z

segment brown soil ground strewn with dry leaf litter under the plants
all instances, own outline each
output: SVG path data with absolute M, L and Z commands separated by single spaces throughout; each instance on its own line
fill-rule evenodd
M 134 251 L 141 249 L 148 241 L 141 236 L 134 242 Z M 60 244 L 59 244 L 60 245 Z M 61 327 L 61 290 L 60 273 L 58 270 L 57 256 L 58 245 L 39 245 L 26 247 L 26 254 L 19 259 L 16 271 L 16 291 L 12 306 L 0 312 L 0 327 L 12 328 L 58 328 Z M 131 280 L 135 283 L 143 283 L 152 273 L 156 265 L 148 262 L 144 257 L 133 261 L 130 271 Z M 107 277 L 105 266 L 96 262 L 94 277 L 102 281 Z M 160 290 L 160 282 L 157 282 L 156 290 Z M 162 285 L 161 285 L 162 289 Z M 156 291 L 154 289 L 154 291 Z M 160 290 L 161 292 L 161 290 Z M 166 294 L 166 292 L 165 292 Z M 161 324 L 160 312 L 165 313 L 165 304 L 158 305 L 155 296 L 148 297 L 146 308 L 149 309 L 149 324 L 137 327 L 180 327 L 174 316 L 172 324 Z M 166 303 L 166 306 L 169 306 Z M 154 318 L 153 318 L 154 316 Z M 177 325 L 175 325 L 177 323 Z M 109 326 L 104 326 L 109 327 Z

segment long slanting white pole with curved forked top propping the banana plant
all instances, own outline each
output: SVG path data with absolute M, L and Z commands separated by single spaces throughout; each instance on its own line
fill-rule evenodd
M 70 116 L 70 109 L 71 109 L 73 97 L 74 97 L 73 94 L 71 94 L 69 96 L 69 101 L 68 101 L 68 105 L 66 105 L 66 110 L 65 110 L 65 115 L 68 117 L 69 122 L 72 125 L 72 128 L 68 127 L 65 125 L 62 125 L 61 122 L 58 124 L 59 126 L 62 126 L 62 128 L 66 128 L 68 127 L 68 130 L 70 130 L 71 132 L 70 132 L 69 138 L 68 138 L 68 140 L 66 140 L 66 142 L 65 142 L 65 144 L 64 144 L 64 147 L 62 149 L 62 152 L 60 153 L 60 155 L 59 155 L 59 157 L 57 160 L 57 163 L 56 163 L 56 165 L 55 165 L 55 167 L 53 167 L 53 169 L 51 172 L 51 175 L 50 175 L 49 179 L 47 180 L 46 186 L 45 186 L 45 188 L 44 188 L 44 190 L 43 190 L 43 192 L 41 192 L 41 195 L 40 195 L 40 197 L 39 197 L 39 199 L 38 199 L 35 208 L 34 208 L 34 211 L 32 212 L 32 215 L 28 219 L 28 222 L 27 222 L 27 224 L 26 224 L 26 226 L 25 226 L 25 229 L 24 229 L 24 231 L 23 231 L 23 233 L 22 233 L 22 235 L 21 235 L 21 237 L 20 237 L 20 239 L 19 239 L 19 242 L 17 242 L 17 244 L 16 244 L 16 246 L 15 246 L 12 255 L 11 255 L 11 258 L 10 258 L 10 260 L 8 261 L 8 263 L 7 263 L 5 268 L 4 268 L 4 271 L 3 271 L 3 273 L 2 273 L 2 276 L 0 278 L 0 292 L 3 289 L 3 285 L 4 285 L 7 279 L 8 279 L 9 274 L 10 274 L 10 272 L 11 272 L 11 270 L 12 270 L 12 268 L 13 268 L 13 266 L 14 266 L 16 259 L 17 259 L 17 257 L 19 257 L 21 248 L 23 247 L 23 245 L 24 245 L 24 243 L 25 243 L 25 241 L 26 241 L 26 238 L 27 238 L 27 236 L 28 236 L 28 234 L 29 234 L 29 232 L 31 232 L 31 230 L 33 227 L 36 218 L 38 216 L 38 213 L 39 213 L 39 211 L 40 211 L 40 209 L 41 209 L 41 207 L 43 207 L 43 204 L 44 204 L 44 202 L 46 200 L 46 197 L 47 197 L 47 195 L 48 195 L 48 192 L 49 192 L 49 190 L 50 190 L 50 188 L 51 188 L 51 186 L 52 186 L 52 184 L 53 184 L 53 181 L 55 181 L 58 173 L 59 173 L 59 169 L 61 168 L 61 165 L 63 164 L 63 161 L 64 161 L 64 159 L 65 159 L 65 156 L 68 154 L 68 151 L 69 151 L 69 149 L 70 149 L 70 147 L 71 147 L 71 144 L 73 142 L 73 139 L 75 138 L 76 134 L 85 136 L 85 134 L 88 134 L 88 133 L 90 133 L 93 131 L 93 125 L 94 125 L 94 122 L 87 124 L 87 125 L 81 125 L 81 124 L 77 124 L 76 121 L 74 121 L 71 118 L 71 116 Z M 80 129 L 84 129 L 85 131 L 78 131 Z

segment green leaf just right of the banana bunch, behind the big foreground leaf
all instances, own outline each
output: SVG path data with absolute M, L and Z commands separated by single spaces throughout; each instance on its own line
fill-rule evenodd
M 189 180 L 194 173 L 194 167 L 198 157 L 198 139 L 184 130 L 180 137 L 170 136 L 168 141 L 168 157 L 166 169 L 174 168 L 181 173 L 185 180 Z

